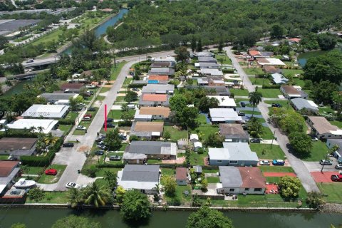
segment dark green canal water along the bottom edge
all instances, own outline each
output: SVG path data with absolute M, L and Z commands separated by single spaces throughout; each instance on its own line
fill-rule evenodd
M 39 209 L 39 208 L 1 208 L 0 227 L 11 227 L 16 222 L 25 223 L 28 228 L 47 228 L 57 219 L 71 214 L 88 217 L 100 222 L 103 228 L 115 227 L 151 227 L 181 228 L 185 227 L 190 212 L 153 212 L 145 224 L 126 224 L 116 210 L 84 210 L 76 213 L 71 209 Z M 341 214 L 305 213 L 305 212 L 224 212 L 232 219 L 235 228 L 329 228 L 331 224 L 342 224 Z

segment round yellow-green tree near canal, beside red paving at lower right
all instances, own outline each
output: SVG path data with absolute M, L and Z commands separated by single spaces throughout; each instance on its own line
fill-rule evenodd
M 298 197 L 299 190 L 301 190 L 301 180 L 298 177 L 280 177 L 278 186 L 282 197 Z

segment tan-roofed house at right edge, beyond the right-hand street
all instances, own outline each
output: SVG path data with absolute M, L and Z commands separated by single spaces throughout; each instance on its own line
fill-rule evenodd
M 332 125 L 323 116 L 309 116 L 306 122 L 312 128 L 312 133 L 317 138 L 342 138 L 342 130 Z

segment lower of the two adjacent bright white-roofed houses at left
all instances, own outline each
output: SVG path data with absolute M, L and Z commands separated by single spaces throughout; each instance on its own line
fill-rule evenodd
M 42 120 L 42 119 L 20 119 L 13 123 L 9 123 L 7 127 L 10 129 L 24 130 L 30 129 L 31 127 L 36 128 L 36 133 L 39 132 L 38 128 L 43 128 L 43 133 L 48 134 L 51 130 L 54 130 L 58 120 Z

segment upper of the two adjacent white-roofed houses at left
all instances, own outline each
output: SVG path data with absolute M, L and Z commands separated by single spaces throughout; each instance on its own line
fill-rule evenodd
M 63 118 L 68 113 L 68 105 L 32 105 L 21 115 L 24 118 Z

